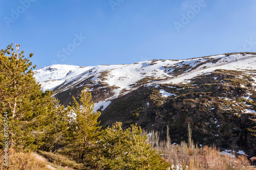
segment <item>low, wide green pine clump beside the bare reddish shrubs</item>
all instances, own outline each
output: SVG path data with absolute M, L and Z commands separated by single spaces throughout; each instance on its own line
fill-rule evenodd
M 170 165 L 146 143 L 140 127 L 122 130 L 115 123 L 102 131 L 99 140 L 98 164 L 103 169 L 166 169 Z

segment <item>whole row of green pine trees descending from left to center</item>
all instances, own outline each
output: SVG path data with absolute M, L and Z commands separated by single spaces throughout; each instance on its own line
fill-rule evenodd
M 115 123 L 102 130 L 89 89 L 81 91 L 79 101 L 73 98 L 67 109 L 59 105 L 53 92 L 42 91 L 33 78 L 36 65 L 29 60 L 33 54 L 26 58 L 24 51 L 18 52 L 19 45 L 14 49 L 11 44 L 0 56 L 0 137 L 8 139 L 8 150 L 58 152 L 83 163 L 84 169 L 169 167 L 146 142 L 140 127 L 123 130 L 121 123 Z M 6 149 L 5 143 L 0 148 Z

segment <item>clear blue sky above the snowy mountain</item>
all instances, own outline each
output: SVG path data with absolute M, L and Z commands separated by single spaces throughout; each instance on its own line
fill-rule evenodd
M 255 0 L 0 0 L 0 48 L 19 43 L 37 69 L 256 52 L 255 9 Z

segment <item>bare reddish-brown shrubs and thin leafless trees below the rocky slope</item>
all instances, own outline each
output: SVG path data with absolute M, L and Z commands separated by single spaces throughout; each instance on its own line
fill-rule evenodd
M 190 129 L 190 128 L 188 128 Z M 253 169 L 250 168 L 249 160 L 241 155 L 237 158 L 229 155 L 222 155 L 215 147 L 198 147 L 191 139 L 191 131 L 188 130 L 188 142 L 181 141 L 180 144 L 172 144 L 169 135 L 166 140 L 159 140 L 159 132 L 152 131 L 150 142 L 154 149 L 157 149 L 162 157 L 172 163 L 173 169 Z M 168 128 L 167 128 L 168 134 Z

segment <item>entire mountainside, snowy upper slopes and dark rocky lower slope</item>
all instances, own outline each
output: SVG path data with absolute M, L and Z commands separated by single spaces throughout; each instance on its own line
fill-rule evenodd
M 187 139 L 192 125 L 198 144 L 256 154 L 256 55 L 223 54 L 134 64 L 52 65 L 35 70 L 42 89 L 68 105 L 87 86 L 102 127 L 123 122 L 146 130 L 170 127 L 172 142 Z

